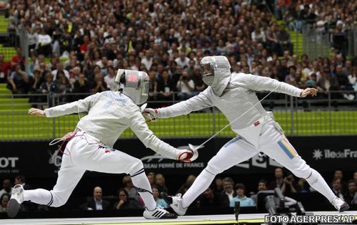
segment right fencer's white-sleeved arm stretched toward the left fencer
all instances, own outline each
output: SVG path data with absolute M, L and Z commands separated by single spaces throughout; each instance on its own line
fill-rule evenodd
M 176 103 L 166 108 L 157 109 L 157 117 L 159 118 L 169 118 L 176 117 L 178 115 L 186 115 L 192 111 L 202 110 L 204 108 L 209 108 L 213 104 L 211 100 L 208 98 L 209 92 L 208 88 L 203 92 L 199 93 L 188 100 L 182 101 L 180 103 Z

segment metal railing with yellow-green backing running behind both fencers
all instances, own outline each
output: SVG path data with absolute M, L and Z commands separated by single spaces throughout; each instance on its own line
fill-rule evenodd
M 27 115 L 29 108 L 49 108 L 84 98 L 89 94 L 29 94 L 0 95 L 0 140 L 50 140 L 74 130 L 79 115 L 55 118 Z M 266 93 L 258 93 L 262 98 Z M 352 100 L 352 97 L 354 99 Z M 159 97 L 158 97 L 159 98 Z M 350 98 L 350 100 L 346 99 Z M 149 100 L 149 108 L 159 108 L 178 102 Z M 357 101 L 355 92 L 328 92 L 318 98 L 293 98 L 273 93 L 263 100 L 263 107 L 273 111 L 288 136 L 357 135 Z M 81 117 L 85 116 L 83 113 Z M 149 127 L 159 137 L 210 137 L 228 124 L 217 108 L 207 108 L 189 115 L 150 122 Z M 227 128 L 218 137 L 233 137 Z M 136 138 L 130 129 L 121 138 Z

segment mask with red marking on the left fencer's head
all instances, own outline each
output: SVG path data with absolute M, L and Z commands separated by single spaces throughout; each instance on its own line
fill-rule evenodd
M 148 100 L 149 75 L 142 71 L 122 70 L 116 73 L 115 82 L 119 83 L 119 89 L 128 96 L 136 105 L 141 105 Z

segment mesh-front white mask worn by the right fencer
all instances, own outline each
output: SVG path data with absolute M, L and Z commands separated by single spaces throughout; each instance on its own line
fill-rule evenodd
M 201 77 L 213 92 L 221 96 L 231 80 L 231 65 L 226 56 L 206 56 L 201 59 Z

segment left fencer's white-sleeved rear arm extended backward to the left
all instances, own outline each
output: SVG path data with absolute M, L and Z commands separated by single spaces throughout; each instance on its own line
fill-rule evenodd
M 98 95 L 100 95 L 100 93 L 90 95 L 87 98 L 75 101 L 73 103 L 57 105 L 55 107 L 48 108 L 44 110 L 44 112 L 46 113 L 46 117 L 57 117 L 60 115 L 69 115 L 78 112 L 88 112 Z

